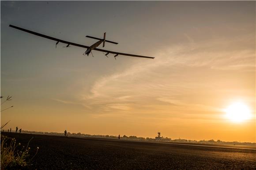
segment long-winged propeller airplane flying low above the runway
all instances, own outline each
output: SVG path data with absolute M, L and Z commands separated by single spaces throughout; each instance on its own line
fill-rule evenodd
M 118 55 L 126 55 L 126 56 L 131 56 L 131 57 L 140 57 L 140 58 L 152 58 L 154 59 L 154 57 L 147 57 L 147 56 L 142 56 L 142 55 L 135 55 L 135 54 L 126 54 L 126 53 L 120 53 L 120 52 L 116 52 L 116 51 L 109 51 L 109 50 L 103 50 L 103 49 L 100 49 L 100 48 L 97 48 L 101 43 L 103 43 L 103 47 L 105 47 L 105 42 L 108 42 L 108 43 L 114 43 L 114 44 L 118 44 L 116 42 L 113 42 L 113 41 L 109 41 L 109 40 L 106 40 L 106 33 L 104 33 L 104 36 L 103 36 L 103 39 L 101 38 L 96 38 L 96 37 L 93 37 L 93 36 L 86 36 L 88 38 L 93 38 L 93 39 L 96 39 L 96 40 L 99 40 L 98 42 L 92 44 L 90 47 L 89 46 L 85 46 L 85 45 L 81 45 L 81 44 L 78 44 L 78 43 L 72 43 L 72 42 L 68 42 L 68 41 L 65 41 L 65 40 L 60 40 L 60 39 L 57 39 L 57 38 L 54 38 L 54 37 L 51 37 L 51 36 L 46 36 L 46 35 L 43 35 L 43 34 L 40 34 L 40 33 L 36 33 L 34 31 L 30 31 L 28 29 L 23 29 L 23 28 L 20 28 L 20 27 L 17 27 L 17 26 L 14 26 L 14 25 L 9 25 L 10 27 L 12 28 L 15 28 L 15 29 L 19 29 L 21 31 L 25 31 L 27 33 L 30 33 L 30 34 L 34 34 L 36 36 L 41 36 L 41 37 L 44 37 L 44 38 L 47 38 L 47 39 L 50 39 L 50 40 L 55 40 L 56 41 L 56 44 L 55 44 L 55 47 L 57 47 L 57 44 L 59 42 L 61 43 L 65 43 L 67 44 L 66 47 L 70 47 L 70 45 L 73 45 L 73 46 L 77 46 L 77 47 L 82 47 L 82 48 L 87 48 L 87 50 L 83 53 L 83 55 L 86 55 L 87 56 L 91 53 L 92 54 L 92 50 L 96 50 L 96 51 L 102 51 L 102 52 L 105 52 L 105 56 L 108 57 L 108 54 L 114 54 L 114 58 L 116 59 L 116 57 Z M 93 56 L 93 54 L 92 54 Z

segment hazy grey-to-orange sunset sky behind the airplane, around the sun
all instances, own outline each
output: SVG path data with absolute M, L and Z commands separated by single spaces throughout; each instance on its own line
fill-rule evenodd
M 255 1 L 0 4 L 6 129 L 256 142 Z M 155 58 L 84 56 L 10 24 L 87 46 L 106 32 L 119 44 L 104 49 Z M 235 102 L 250 119 L 227 119 Z

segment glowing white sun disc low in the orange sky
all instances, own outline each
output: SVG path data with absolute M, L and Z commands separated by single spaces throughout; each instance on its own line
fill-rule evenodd
M 236 102 L 228 106 L 225 112 L 228 119 L 237 123 L 251 118 L 249 108 L 241 102 Z

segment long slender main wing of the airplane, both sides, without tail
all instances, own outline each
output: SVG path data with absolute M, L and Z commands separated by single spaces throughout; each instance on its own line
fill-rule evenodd
M 61 43 L 66 43 L 66 44 L 68 44 L 68 45 L 73 45 L 73 46 L 77 46 L 77 47 L 90 48 L 90 47 L 88 47 L 88 46 L 81 45 L 81 44 L 78 44 L 78 43 L 72 43 L 72 42 L 60 40 L 60 39 L 57 39 L 57 38 L 54 38 L 54 37 L 51 37 L 51 36 L 45 36 L 45 35 L 43 35 L 43 34 L 36 33 L 36 32 L 34 32 L 34 31 L 30 31 L 30 30 L 27 30 L 27 29 L 23 29 L 23 28 L 14 26 L 14 25 L 9 25 L 9 26 L 12 27 L 12 28 L 15 28 L 15 29 L 19 29 L 19 30 L 21 30 L 21 31 L 25 31 L 25 32 L 30 33 L 30 34 L 34 34 L 34 35 L 36 35 L 36 36 L 41 36 L 41 37 L 44 37 L 44 38 L 47 38 L 47 39 L 50 39 L 50 40 L 57 41 L 57 43 L 58 43 L 58 42 L 61 42 Z M 56 43 L 56 44 L 57 44 L 57 43 Z M 131 56 L 131 57 L 154 58 L 154 57 L 147 57 L 147 56 L 142 56 L 142 55 L 134 55 L 134 54 L 126 54 L 126 53 L 115 52 L 115 51 L 108 51 L 108 50 L 103 50 L 103 49 L 99 49 L 99 48 L 94 48 L 94 50 L 96 50 L 96 51 L 102 51 L 102 52 L 106 52 L 106 53 L 111 53 L 111 54 L 116 54 L 116 56 L 117 56 L 117 55 L 126 55 L 126 56 Z

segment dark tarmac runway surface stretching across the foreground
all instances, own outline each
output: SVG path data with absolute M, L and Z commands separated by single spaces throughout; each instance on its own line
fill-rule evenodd
M 3 135 L 3 133 L 1 134 Z M 256 170 L 256 149 L 248 146 L 151 143 L 99 138 L 4 133 L 27 145 L 30 169 Z

